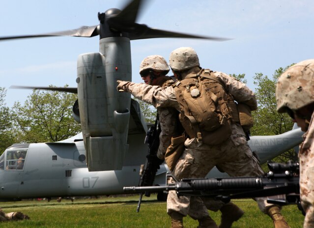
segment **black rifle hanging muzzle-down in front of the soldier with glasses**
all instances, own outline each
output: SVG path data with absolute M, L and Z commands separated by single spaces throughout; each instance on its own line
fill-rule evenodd
M 161 128 L 159 126 L 159 117 L 157 114 L 155 125 L 150 127 L 146 133 L 145 144 L 148 145 L 148 153 L 146 155 L 145 164 L 141 165 L 139 186 L 153 185 L 157 170 L 163 163 L 163 160 L 157 157 L 157 150 L 159 147 L 159 135 Z M 143 198 L 143 192 L 146 197 L 150 197 L 150 191 L 142 191 L 137 207 L 137 212 L 140 211 L 140 206 Z

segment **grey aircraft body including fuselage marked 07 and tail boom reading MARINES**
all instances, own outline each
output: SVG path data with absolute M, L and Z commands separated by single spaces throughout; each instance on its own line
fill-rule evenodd
M 132 123 L 135 121 L 131 118 L 130 128 L 135 129 Z M 145 125 L 143 128 L 146 129 Z M 298 145 L 302 141 L 302 134 L 297 128 L 281 135 L 252 136 L 249 144 L 260 162 L 264 163 Z M 124 186 L 138 185 L 140 166 L 147 153 L 144 137 L 144 131 L 140 132 L 139 129 L 137 133 L 129 134 L 130 146 L 121 170 L 96 172 L 89 172 L 86 160 L 82 159 L 86 154 L 82 133 L 56 143 L 25 144 L 28 152 L 22 170 L 6 170 L 6 160 L 0 164 L 0 199 L 123 194 Z M 20 148 L 15 150 L 22 149 L 23 145 L 18 146 Z M 10 148 L 1 158 L 5 158 Z M 161 165 L 154 184 L 164 185 L 168 171 L 167 165 Z M 216 168 L 207 175 L 226 176 Z

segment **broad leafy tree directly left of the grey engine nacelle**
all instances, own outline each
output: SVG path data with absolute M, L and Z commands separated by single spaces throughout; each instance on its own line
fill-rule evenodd
M 55 142 L 77 134 L 80 125 L 72 117 L 76 99 L 76 94 L 72 93 L 33 90 L 24 105 L 15 102 L 13 111 L 18 140 Z

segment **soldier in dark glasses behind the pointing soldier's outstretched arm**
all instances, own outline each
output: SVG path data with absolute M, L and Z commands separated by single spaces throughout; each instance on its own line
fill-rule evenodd
M 174 82 L 176 81 L 174 77 L 165 76 L 169 72 L 169 70 L 170 69 L 167 61 L 160 55 L 147 56 L 143 59 L 140 65 L 140 75 L 145 84 L 148 85 L 158 85 L 161 87 L 165 87 L 174 84 Z M 162 73 L 159 74 L 159 72 Z M 164 160 L 167 148 L 171 144 L 171 137 L 181 135 L 184 129 L 179 122 L 178 111 L 175 108 L 157 107 L 157 112 L 159 116 L 159 123 L 161 126 L 161 133 L 159 136 L 160 144 L 157 151 L 157 157 L 161 160 Z M 172 197 L 177 197 L 174 191 L 171 191 L 169 199 L 171 199 Z M 230 218 L 232 221 L 234 221 L 235 219 L 239 218 L 239 213 L 240 216 L 242 216 L 242 214 L 244 213 L 233 203 L 223 203 L 221 201 L 209 200 L 208 198 L 206 198 L 206 206 L 207 209 L 210 209 L 212 211 L 221 210 L 222 213 L 225 215 L 225 218 L 223 218 L 222 220 L 222 224 L 230 224 L 230 226 L 231 223 L 227 222 L 230 221 Z M 232 210 L 232 212 L 230 212 L 230 210 Z M 191 213 L 188 213 L 192 217 L 194 217 L 193 211 L 195 211 L 195 209 L 191 208 Z M 226 221 L 227 217 L 228 219 Z

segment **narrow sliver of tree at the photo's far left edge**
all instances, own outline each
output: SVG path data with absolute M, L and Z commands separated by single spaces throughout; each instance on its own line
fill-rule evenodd
M 0 154 L 14 143 L 12 114 L 4 102 L 5 96 L 6 89 L 0 87 Z

